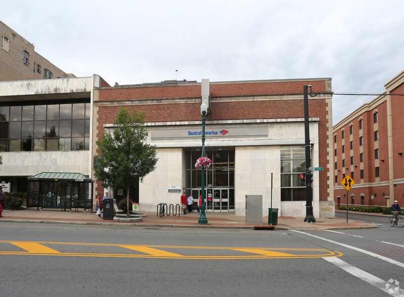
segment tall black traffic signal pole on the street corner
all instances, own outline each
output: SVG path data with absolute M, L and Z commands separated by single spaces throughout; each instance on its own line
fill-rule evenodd
M 312 171 L 310 170 L 310 130 L 309 130 L 309 95 L 307 89 L 311 85 L 303 86 L 304 106 L 305 106 L 305 155 L 306 155 L 306 217 L 305 222 L 315 223 L 313 216 L 313 189 L 312 189 Z

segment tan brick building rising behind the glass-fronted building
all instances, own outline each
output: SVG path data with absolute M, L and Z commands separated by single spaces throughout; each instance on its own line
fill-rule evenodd
M 0 21 L 0 81 L 75 77 L 35 52 L 35 46 Z

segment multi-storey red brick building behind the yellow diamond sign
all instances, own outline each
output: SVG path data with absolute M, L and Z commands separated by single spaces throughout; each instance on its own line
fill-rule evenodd
M 333 127 L 335 207 L 404 204 L 404 71 Z M 347 197 L 340 181 L 354 179 Z

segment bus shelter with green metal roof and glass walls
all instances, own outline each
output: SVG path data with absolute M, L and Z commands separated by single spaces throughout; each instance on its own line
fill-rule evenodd
M 82 173 L 42 172 L 28 179 L 27 209 L 92 211 L 94 181 Z

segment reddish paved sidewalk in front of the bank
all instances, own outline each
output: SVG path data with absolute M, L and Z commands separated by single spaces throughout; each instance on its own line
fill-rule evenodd
M 140 213 L 140 212 L 139 212 Z M 83 211 L 61 210 L 20 210 L 3 211 L 1 222 L 19 223 L 54 223 L 54 224 L 81 224 L 81 225 L 109 225 L 109 226 L 139 226 L 139 227 L 187 227 L 187 228 L 239 228 L 250 230 L 310 230 L 310 229 L 362 229 L 377 228 L 376 225 L 361 221 L 346 219 L 316 218 L 316 223 L 305 223 L 300 217 L 278 217 L 277 225 L 268 224 L 268 217 L 263 217 L 262 224 L 247 224 L 244 216 L 235 216 L 234 213 L 206 213 L 208 224 L 198 224 L 199 215 L 194 212 L 178 216 L 157 216 L 156 212 L 144 212 L 142 222 L 120 223 L 113 220 L 98 218 L 95 213 Z M 348 216 L 349 218 L 349 216 Z

